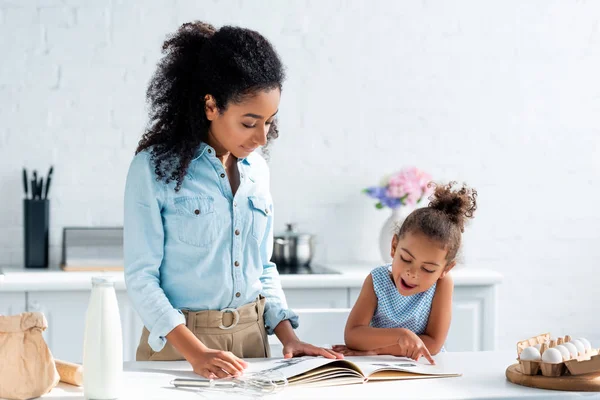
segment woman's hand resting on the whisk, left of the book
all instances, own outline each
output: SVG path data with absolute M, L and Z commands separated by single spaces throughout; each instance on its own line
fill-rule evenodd
M 194 372 L 208 379 L 240 376 L 248 363 L 229 351 L 206 349 L 190 361 Z

